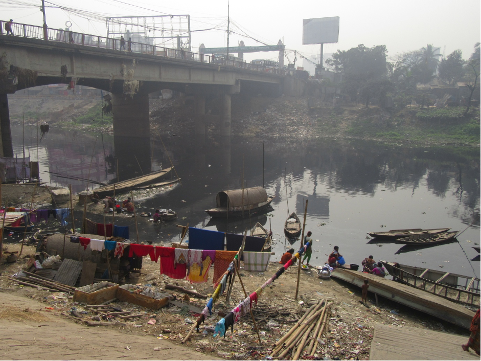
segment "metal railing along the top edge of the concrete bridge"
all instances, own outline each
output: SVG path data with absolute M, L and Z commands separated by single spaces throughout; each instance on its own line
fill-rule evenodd
M 6 23 L 7 21 L 0 20 L 0 35 L 7 34 L 7 31 L 5 30 Z M 79 44 L 86 47 L 111 49 L 111 50 L 140 53 L 140 54 L 150 54 L 154 56 L 162 56 L 165 58 L 192 60 L 192 61 L 208 63 L 213 65 L 228 65 L 228 66 L 240 67 L 244 69 L 250 69 L 254 71 L 260 71 L 260 72 L 263 71 L 262 69 L 252 68 L 250 67 L 249 64 L 246 64 L 242 61 L 236 61 L 231 59 L 227 60 L 219 57 L 214 57 L 211 55 L 188 52 L 188 51 L 185 51 L 184 49 L 180 49 L 180 50 L 170 49 L 170 48 L 158 47 L 152 44 L 145 44 L 142 42 L 133 42 L 133 41 L 130 42 L 130 46 L 129 46 L 128 39 L 124 40 L 125 43 L 123 46 L 121 46 L 120 39 L 107 38 L 103 36 L 83 34 L 83 33 L 76 33 L 76 32 L 67 31 L 63 29 L 47 28 L 47 30 L 44 32 L 43 27 L 28 25 L 28 24 L 19 24 L 17 22 L 14 22 L 11 25 L 11 30 L 14 36 L 21 36 L 26 38 L 45 40 L 45 36 L 47 36 L 46 40 L 49 40 L 49 41 Z

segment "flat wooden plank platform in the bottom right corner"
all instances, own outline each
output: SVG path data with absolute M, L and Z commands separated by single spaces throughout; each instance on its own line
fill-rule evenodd
M 376 324 L 370 360 L 479 360 L 463 351 L 468 336 L 415 327 Z

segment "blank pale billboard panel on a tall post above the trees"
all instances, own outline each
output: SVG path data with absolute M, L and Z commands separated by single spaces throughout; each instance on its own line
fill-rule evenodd
M 302 20 L 302 43 L 326 44 L 339 41 L 339 16 Z

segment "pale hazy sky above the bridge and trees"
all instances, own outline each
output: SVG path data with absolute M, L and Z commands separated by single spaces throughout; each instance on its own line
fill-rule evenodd
M 39 10 L 41 0 L 0 0 L 2 19 L 13 18 L 15 22 L 42 25 Z M 154 0 L 52 0 L 45 2 L 47 25 L 50 28 L 64 28 L 70 20 L 73 31 L 106 36 L 105 21 L 97 20 L 93 14 L 82 18 L 52 6 L 94 12 L 98 16 L 148 16 L 165 14 L 190 14 L 191 29 L 216 30 L 192 33 L 194 51 L 201 43 L 206 47 L 227 45 L 227 0 L 179 0 L 160 2 Z M 164 6 L 165 5 L 165 6 Z M 144 8 L 144 9 L 142 9 Z M 246 35 L 230 35 L 230 46 L 237 46 L 243 40 L 246 46 L 260 45 L 254 39 L 276 44 L 284 39 L 287 55 L 292 61 L 296 50 L 304 55 L 318 54 L 319 46 L 302 44 L 302 20 L 315 17 L 340 17 L 339 42 L 325 44 L 324 53 L 337 49 L 348 50 L 358 44 L 372 47 L 384 44 L 388 56 L 415 50 L 427 43 L 441 48 L 448 55 L 461 49 L 468 58 L 474 44 L 481 38 L 481 6 L 479 0 L 405 0 L 394 1 L 230 1 L 231 30 Z M 238 27 L 236 27 L 236 25 Z M 239 30 L 241 29 L 241 31 Z M 252 39 L 254 38 L 254 39 Z M 445 50 L 444 50 L 445 47 Z M 277 58 L 278 54 L 246 54 L 247 60 Z M 301 59 L 297 56 L 297 60 Z M 286 59 L 287 63 L 287 59 Z

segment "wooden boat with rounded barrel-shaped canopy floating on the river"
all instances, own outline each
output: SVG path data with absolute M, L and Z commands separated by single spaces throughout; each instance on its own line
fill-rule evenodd
M 234 189 L 217 193 L 217 207 L 208 209 L 211 217 L 235 218 L 265 212 L 276 196 L 269 197 L 262 187 Z

